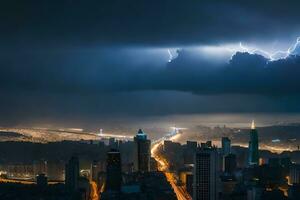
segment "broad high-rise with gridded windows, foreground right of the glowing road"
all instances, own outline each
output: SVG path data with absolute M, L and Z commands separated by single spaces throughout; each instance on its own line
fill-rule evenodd
M 200 148 L 195 154 L 193 200 L 217 200 L 219 156 L 216 148 Z

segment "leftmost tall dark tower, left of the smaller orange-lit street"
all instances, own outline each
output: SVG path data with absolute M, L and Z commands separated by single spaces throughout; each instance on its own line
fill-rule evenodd
M 72 156 L 65 167 L 65 184 L 69 191 L 78 188 L 79 160 L 77 156 Z

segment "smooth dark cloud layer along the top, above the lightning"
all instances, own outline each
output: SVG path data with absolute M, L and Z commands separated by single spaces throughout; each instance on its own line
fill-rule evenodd
M 1 2 L 2 43 L 182 45 L 299 34 L 299 1 Z

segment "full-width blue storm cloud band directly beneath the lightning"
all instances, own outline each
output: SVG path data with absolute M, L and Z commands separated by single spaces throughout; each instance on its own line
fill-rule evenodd
M 146 58 L 145 58 L 146 59 Z M 270 61 L 236 53 L 229 63 L 214 64 L 181 50 L 170 63 L 134 63 L 118 49 L 28 52 L 2 55 L 3 91 L 101 94 L 172 90 L 197 94 L 297 95 L 300 56 Z M 211 58 L 214 60 L 214 57 Z

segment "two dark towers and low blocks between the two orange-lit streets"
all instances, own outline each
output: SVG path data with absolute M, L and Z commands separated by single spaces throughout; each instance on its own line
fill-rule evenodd
M 151 141 L 140 129 L 134 137 L 134 169 L 122 173 L 121 152 L 111 149 L 107 153 L 106 178 L 100 198 L 118 199 L 176 199 L 171 185 L 162 172 L 151 167 Z

